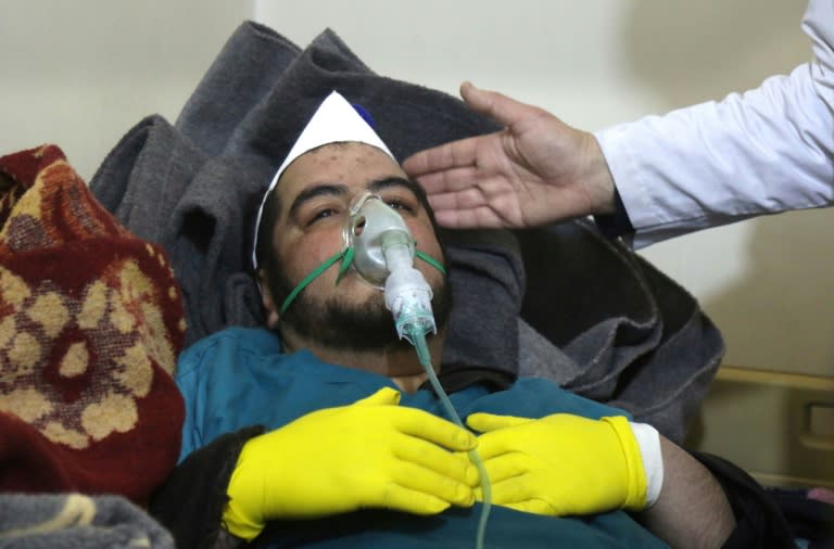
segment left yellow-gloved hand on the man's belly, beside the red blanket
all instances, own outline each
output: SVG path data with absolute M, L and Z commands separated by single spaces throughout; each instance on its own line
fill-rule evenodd
M 273 519 L 471 506 L 478 471 L 454 452 L 473 448 L 475 435 L 399 404 L 400 393 L 386 387 L 250 439 L 229 481 L 226 528 L 253 539 Z

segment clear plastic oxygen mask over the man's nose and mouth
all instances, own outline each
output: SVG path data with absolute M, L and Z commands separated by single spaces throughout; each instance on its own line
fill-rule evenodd
M 356 273 L 383 290 L 397 335 L 414 344 L 415 331 L 435 333 L 431 288 L 414 268 L 414 238 L 400 214 L 366 192 L 350 208 L 344 240 Z

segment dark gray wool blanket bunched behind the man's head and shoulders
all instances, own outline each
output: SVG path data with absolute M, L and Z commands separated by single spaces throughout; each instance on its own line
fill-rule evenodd
M 119 221 L 167 250 L 187 344 L 261 324 L 249 265 L 256 208 L 333 89 L 371 114 L 400 159 L 498 129 L 452 95 L 377 75 L 330 29 L 302 49 L 240 25 L 176 123 L 139 122 L 90 182 Z M 455 304 L 445 368 L 551 378 L 683 437 L 723 353 L 683 289 L 585 221 L 442 237 Z

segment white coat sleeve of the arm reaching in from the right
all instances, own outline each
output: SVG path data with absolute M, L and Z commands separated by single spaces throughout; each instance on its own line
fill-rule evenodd
M 810 0 L 813 60 L 757 89 L 595 133 L 641 247 L 834 204 L 834 0 Z

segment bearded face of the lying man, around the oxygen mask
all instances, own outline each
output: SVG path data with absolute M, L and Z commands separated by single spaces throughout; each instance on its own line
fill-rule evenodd
M 296 158 L 281 175 L 274 197 L 279 209 L 271 253 L 279 272 L 265 281 L 271 297 L 266 299 L 270 318 L 277 317 L 276 308 L 304 277 L 342 250 L 348 210 L 367 190 L 403 217 L 418 250 L 442 260 L 429 214 L 413 184 L 390 156 L 362 143 L 325 145 Z M 432 288 L 440 327 L 448 314 L 445 279 L 424 261 L 416 261 L 415 268 Z M 338 271 L 334 265 L 311 282 L 285 311 L 279 328 L 330 348 L 368 350 L 396 344 L 382 292 L 353 270 L 337 284 Z

